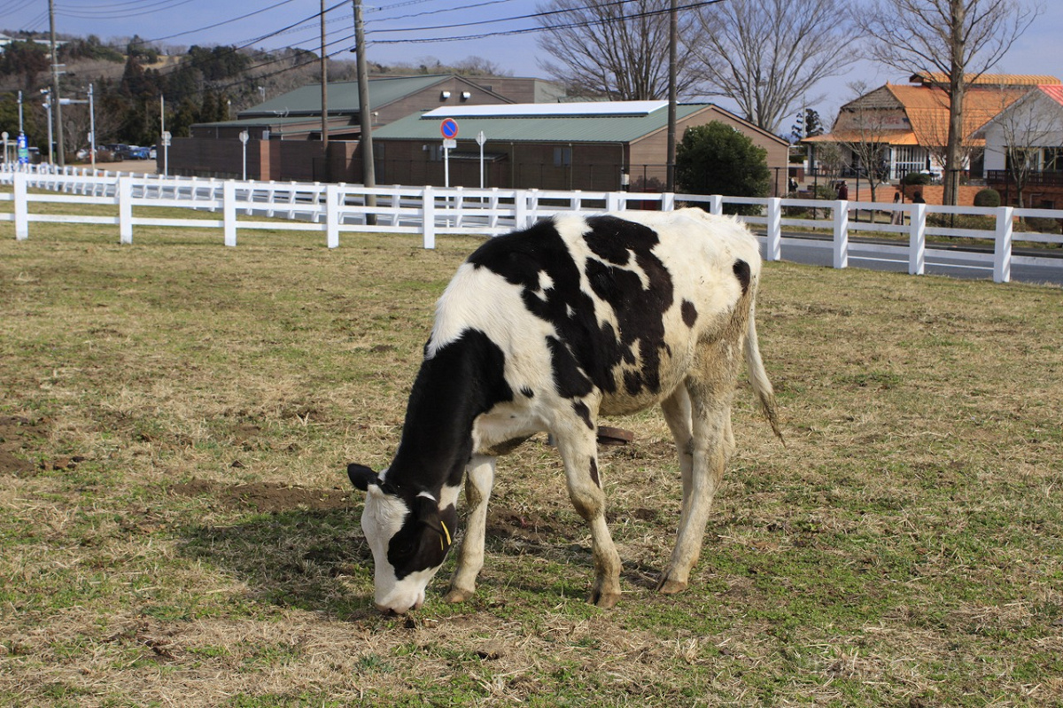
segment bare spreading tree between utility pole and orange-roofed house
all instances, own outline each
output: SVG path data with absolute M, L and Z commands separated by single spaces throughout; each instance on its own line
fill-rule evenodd
M 816 83 L 851 67 L 849 17 L 848 0 L 730 0 L 701 9 L 691 48 L 711 92 L 777 133 L 786 116 L 821 98 L 809 96 Z

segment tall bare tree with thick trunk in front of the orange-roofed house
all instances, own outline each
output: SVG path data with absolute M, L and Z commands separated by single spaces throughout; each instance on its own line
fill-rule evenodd
M 1037 16 L 1025 0 L 873 0 L 854 13 L 868 54 L 891 67 L 944 75 L 948 97 L 945 204 L 956 204 L 963 169 L 963 97 Z

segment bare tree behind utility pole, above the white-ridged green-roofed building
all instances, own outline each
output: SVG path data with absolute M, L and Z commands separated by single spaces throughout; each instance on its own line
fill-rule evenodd
M 539 22 L 539 46 L 552 60 L 540 66 L 576 94 L 638 101 L 668 97 L 669 0 L 553 0 Z M 679 16 L 679 36 L 691 29 Z M 689 49 L 679 43 L 676 90 L 696 83 Z

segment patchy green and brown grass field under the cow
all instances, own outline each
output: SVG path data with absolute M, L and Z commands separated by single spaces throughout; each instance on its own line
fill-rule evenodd
M 387 465 L 478 242 L 0 223 L 0 705 L 1063 705 L 1063 290 L 765 266 L 690 589 L 657 412 L 604 448 L 625 562 L 555 451 L 500 460 L 487 564 L 373 609 L 348 461 Z

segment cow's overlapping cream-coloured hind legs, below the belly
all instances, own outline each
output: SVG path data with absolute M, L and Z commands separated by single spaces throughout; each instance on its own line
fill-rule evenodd
M 690 571 L 697 562 L 705 538 L 712 500 L 723 479 L 724 467 L 733 450 L 730 432 L 730 388 L 691 383 L 690 437 L 685 438 L 682 397 L 673 395 L 663 408 L 669 426 L 676 435 L 679 467 L 684 475 L 682 513 L 672 560 L 657 589 L 672 594 L 687 588 Z M 724 392 L 726 391 L 726 392 Z M 678 398 L 678 400 L 676 400 Z M 690 451 L 689 458 L 687 450 Z M 687 471 L 687 465 L 690 471 Z

